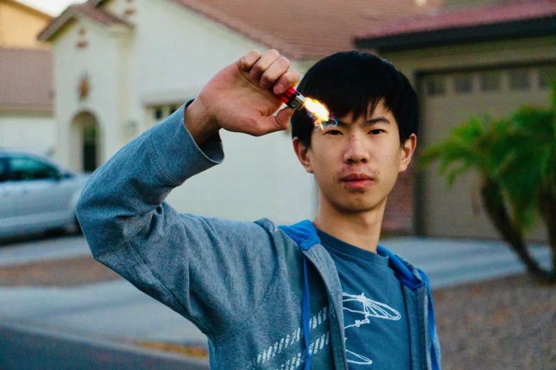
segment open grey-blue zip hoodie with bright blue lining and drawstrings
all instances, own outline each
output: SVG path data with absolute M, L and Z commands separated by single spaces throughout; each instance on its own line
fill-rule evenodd
M 276 227 L 175 211 L 164 200 L 224 159 L 200 147 L 187 103 L 94 172 L 77 203 L 93 257 L 208 337 L 211 369 L 345 369 L 342 286 L 308 220 Z M 403 286 L 411 369 L 440 369 L 427 277 L 378 247 Z

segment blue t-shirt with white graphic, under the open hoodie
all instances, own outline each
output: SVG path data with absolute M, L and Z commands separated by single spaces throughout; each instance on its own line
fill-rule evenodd
M 349 369 L 410 369 L 405 301 L 388 257 L 317 233 L 342 283 Z

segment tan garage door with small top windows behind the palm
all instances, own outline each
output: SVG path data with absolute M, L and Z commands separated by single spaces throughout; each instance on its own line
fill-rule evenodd
M 525 103 L 548 106 L 548 79 L 553 70 L 554 66 L 539 65 L 425 75 L 420 80 L 424 108 L 420 145 L 447 138 L 471 116 L 489 113 L 501 117 Z M 462 176 L 447 189 L 437 168 L 437 164 L 429 167 L 420 179 L 420 232 L 440 237 L 499 238 L 481 208 L 479 176 Z M 528 238 L 547 240 L 543 226 Z

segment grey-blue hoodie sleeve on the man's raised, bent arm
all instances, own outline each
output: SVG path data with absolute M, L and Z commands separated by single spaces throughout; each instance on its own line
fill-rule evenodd
M 186 106 L 94 172 L 77 218 L 94 259 L 217 340 L 260 304 L 276 253 L 257 223 L 181 214 L 164 201 L 224 159 L 218 135 L 195 144 L 183 124 Z

